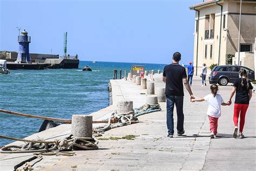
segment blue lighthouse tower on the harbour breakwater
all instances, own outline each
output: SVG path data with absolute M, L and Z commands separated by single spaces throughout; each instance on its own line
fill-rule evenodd
M 30 62 L 29 56 L 29 43 L 31 37 L 28 36 L 28 32 L 25 30 L 21 32 L 21 35 L 18 36 L 18 43 L 19 43 L 19 51 L 18 57 L 15 61 L 16 63 L 28 63 Z

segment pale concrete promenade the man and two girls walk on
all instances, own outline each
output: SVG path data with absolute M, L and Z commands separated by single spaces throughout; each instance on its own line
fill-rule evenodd
M 164 87 L 161 75 L 155 74 L 155 87 Z M 113 105 L 93 113 L 93 120 L 107 118 L 114 105 L 122 99 L 133 100 L 133 107 L 145 104 L 145 90 L 129 81 L 111 80 Z M 219 86 L 219 93 L 228 100 L 232 86 Z M 210 93 L 194 77 L 192 91 L 196 97 Z M 138 124 L 111 129 L 99 140 L 97 151 L 76 151 L 75 156 L 43 156 L 35 170 L 255 170 L 255 93 L 246 115 L 245 139 L 234 139 L 233 105 L 221 107 L 218 136 L 210 139 L 207 103 L 191 103 L 185 90 L 185 135 L 167 138 L 166 103 L 159 103 L 162 111 L 139 117 Z M 233 101 L 234 102 L 234 98 Z M 174 110 L 174 127 L 176 127 Z M 175 130 L 176 131 L 176 130 Z M 31 135 L 43 138 L 68 136 L 70 125 L 61 125 Z M 135 135 L 134 140 L 118 139 Z M 110 137 L 112 137 L 110 139 Z M 15 142 L 19 143 L 19 142 Z M 31 158 L 31 154 L 0 154 L 0 170 L 12 170 L 17 163 Z

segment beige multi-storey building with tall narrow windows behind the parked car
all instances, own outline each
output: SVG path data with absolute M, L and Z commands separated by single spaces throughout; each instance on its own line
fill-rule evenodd
M 208 0 L 190 6 L 190 9 L 196 11 L 193 61 L 197 74 L 201 73 L 203 63 L 207 67 L 211 64 L 225 65 L 226 54 L 238 52 L 240 0 Z M 256 37 L 256 0 L 242 1 L 241 13 L 240 51 L 253 52 Z M 251 53 L 248 54 L 252 59 Z M 254 64 L 254 61 L 251 63 Z M 234 64 L 237 65 L 238 61 Z M 254 69 L 254 65 L 251 69 Z

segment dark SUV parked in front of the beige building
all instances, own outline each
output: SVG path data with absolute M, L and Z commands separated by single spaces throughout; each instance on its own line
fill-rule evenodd
M 209 77 L 210 84 L 227 85 L 228 83 L 234 83 L 235 79 L 239 77 L 240 69 L 245 69 L 247 71 L 247 76 L 249 79 L 254 80 L 254 71 L 248 69 L 245 66 L 238 65 L 219 65 L 212 69 L 211 75 Z

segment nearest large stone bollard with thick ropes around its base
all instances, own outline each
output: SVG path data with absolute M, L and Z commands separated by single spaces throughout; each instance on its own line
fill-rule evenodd
M 92 116 L 85 114 L 73 114 L 71 134 L 76 137 L 92 138 Z

